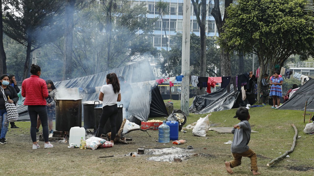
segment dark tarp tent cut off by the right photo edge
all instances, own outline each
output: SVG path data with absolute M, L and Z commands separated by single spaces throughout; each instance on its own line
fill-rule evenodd
M 279 106 L 277 109 L 283 110 L 303 110 L 307 101 L 306 111 L 314 112 L 314 79 L 308 80 L 295 93 L 289 97 L 289 100 Z

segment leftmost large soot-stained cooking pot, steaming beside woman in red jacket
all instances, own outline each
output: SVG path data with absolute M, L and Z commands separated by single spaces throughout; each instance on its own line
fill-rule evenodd
M 72 127 L 82 127 L 82 98 L 59 98 L 56 101 L 56 130 L 68 132 Z

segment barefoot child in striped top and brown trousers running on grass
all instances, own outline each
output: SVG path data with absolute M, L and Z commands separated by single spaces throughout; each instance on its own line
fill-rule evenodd
M 253 175 L 259 175 L 257 172 L 257 157 L 256 153 L 247 146 L 251 138 L 251 126 L 248 120 L 250 119 L 249 110 L 245 107 L 239 107 L 236 111 L 236 116 L 241 122 L 233 126 L 231 132 L 234 134 L 231 144 L 231 153 L 233 160 L 225 162 L 228 173 L 233 173 L 231 168 L 241 165 L 242 157 L 249 157 L 251 159 L 251 171 Z

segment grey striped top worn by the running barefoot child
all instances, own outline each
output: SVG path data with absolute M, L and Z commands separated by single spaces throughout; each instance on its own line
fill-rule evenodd
M 247 120 L 243 120 L 237 125 L 240 126 L 240 129 L 233 128 L 231 130 L 231 132 L 234 134 L 231 144 L 231 152 L 243 153 L 249 149 L 247 144 L 250 142 L 251 138 L 251 126 Z

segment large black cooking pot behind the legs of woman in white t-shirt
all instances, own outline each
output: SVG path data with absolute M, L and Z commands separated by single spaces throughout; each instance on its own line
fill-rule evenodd
M 121 104 L 122 105 L 122 104 Z M 123 105 L 118 106 L 118 116 L 116 118 L 116 132 L 118 132 L 118 130 L 121 127 L 122 124 L 122 120 L 123 120 Z M 95 122 L 96 122 L 96 129 L 98 128 L 99 125 L 99 121 L 100 121 L 100 116 L 102 113 L 102 107 L 95 107 Z M 107 134 L 108 132 L 111 132 L 111 126 L 110 126 L 110 119 L 108 119 L 108 121 L 105 124 L 104 127 L 104 131 L 101 132 L 101 134 Z

